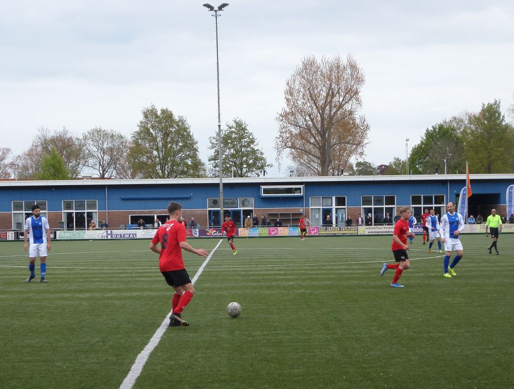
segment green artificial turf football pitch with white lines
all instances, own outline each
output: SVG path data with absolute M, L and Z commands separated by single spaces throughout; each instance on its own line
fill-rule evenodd
M 421 237 L 391 288 L 391 236 L 190 239 L 196 294 L 134 388 L 507 388 L 514 382 L 514 234 L 464 235 L 456 276 Z M 170 311 L 149 240 L 52 242 L 47 284 L 0 244 L 0 387 L 118 388 Z M 434 245 L 437 248 L 437 244 Z M 193 276 L 205 258 L 183 251 Z M 243 307 L 231 318 L 228 303 Z

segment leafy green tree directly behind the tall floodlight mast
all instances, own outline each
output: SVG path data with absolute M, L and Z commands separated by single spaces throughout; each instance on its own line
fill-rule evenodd
M 211 177 L 219 176 L 219 155 L 217 135 L 209 137 L 209 156 Z M 259 142 L 248 129 L 244 120 L 234 118 L 222 130 L 222 165 L 223 176 L 232 177 L 260 177 L 271 164 L 267 162 Z

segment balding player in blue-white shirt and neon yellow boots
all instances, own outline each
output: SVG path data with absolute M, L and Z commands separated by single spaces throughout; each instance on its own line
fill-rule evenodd
M 445 277 L 451 278 L 455 276 L 455 270 L 453 268 L 458 264 L 458 261 L 464 255 L 464 249 L 462 248 L 461 239 L 459 239 L 458 235 L 461 231 L 464 230 L 464 220 L 462 219 L 462 215 L 460 213 L 455 212 L 455 205 L 452 201 L 448 202 L 446 209 L 447 213 L 443 215 L 441 218 L 440 224 L 440 234 L 443 237 L 443 243 L 445 244 L 445 259 L 444 259 L 444 270 Z M 451 252 L 455 250 L 457 255 L 453 258 L 451 266 L 448 266 L 450 263 Z

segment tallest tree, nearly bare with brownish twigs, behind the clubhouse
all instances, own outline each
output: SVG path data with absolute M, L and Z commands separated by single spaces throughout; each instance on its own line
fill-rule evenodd
M 364 75 L 355 59 L 305 57 L 287 80 L 278 115 L 277 159 L 289 158 L 313 175 L 339 174 L 361 156 L 370 126 L 359 115 Z

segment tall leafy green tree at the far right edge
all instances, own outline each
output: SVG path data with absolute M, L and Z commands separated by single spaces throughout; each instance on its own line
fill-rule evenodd
M 469 115 L 463 135 L 472 173 L 514 172 L 514 128 L 506 122 L 499 100 L 482 104 L 478 114 Z

